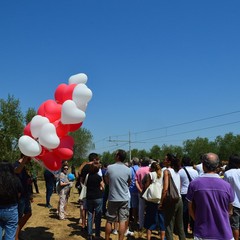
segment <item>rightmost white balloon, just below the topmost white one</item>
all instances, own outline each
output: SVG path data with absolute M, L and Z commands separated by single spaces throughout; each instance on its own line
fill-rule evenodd
M 86 105 L 92 98 L 92 91 L 85 84 L 78 84 L 72 94 L 72 99 L 79 109 Z M 82 109 L 83 110 L 83 109 Z

